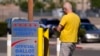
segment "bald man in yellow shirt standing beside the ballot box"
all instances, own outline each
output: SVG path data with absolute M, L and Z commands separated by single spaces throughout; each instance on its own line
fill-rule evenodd
M 63 11 L 65 15 L 57 27 L 57 31 L 61 32 L 60 56 L 72 56 L 78 38 L 80 18 L 72 12 L 72 5 L 69 2 L 64 3 Z

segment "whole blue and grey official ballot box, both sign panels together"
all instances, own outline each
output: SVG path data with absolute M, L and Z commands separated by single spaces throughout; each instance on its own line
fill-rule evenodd
M 12 56 L 37 56 L 38 22 L 12 22 Z

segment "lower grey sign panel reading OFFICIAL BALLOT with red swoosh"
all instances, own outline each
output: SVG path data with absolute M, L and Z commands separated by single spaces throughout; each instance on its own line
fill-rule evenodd
M 36 38 L 12 38 L 12 56 L 37 56 Z

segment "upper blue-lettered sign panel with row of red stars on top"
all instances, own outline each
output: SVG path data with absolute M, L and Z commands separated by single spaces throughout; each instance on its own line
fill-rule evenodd
M 39 24 L 37 22 L 13 22 L 13 37 L 36 37 Z

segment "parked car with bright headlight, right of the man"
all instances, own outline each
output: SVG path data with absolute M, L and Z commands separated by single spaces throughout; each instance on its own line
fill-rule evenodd
M 97 42 L 100 41 L 100 30 L 91 23 L 81 23 L 81 29 L 84 29 L 86 33 L 83 37 L 79 36 L 81 42 Z

